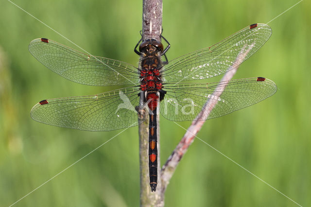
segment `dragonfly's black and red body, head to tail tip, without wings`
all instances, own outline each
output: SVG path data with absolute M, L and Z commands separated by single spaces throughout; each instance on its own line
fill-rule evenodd
M 139 47 L 140 62 L 140 89 L 145 93 L 145 101 L 149 108 L 149 176 L 151 191 L 157 185 L 157 125 L 156 110 L 159 99 L 163 99 L 162 80 L 160 69 L 162 67 L 162 44 L 154 39 L 148 39 Z M 163 95 L 161 95 L 163 94 Z

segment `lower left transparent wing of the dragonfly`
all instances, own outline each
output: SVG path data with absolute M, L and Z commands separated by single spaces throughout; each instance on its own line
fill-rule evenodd
M 86 131 L 110 131 L 138 125 L 139 87 L 92 96 L 43 100 L 31 110 L 35 121 Z

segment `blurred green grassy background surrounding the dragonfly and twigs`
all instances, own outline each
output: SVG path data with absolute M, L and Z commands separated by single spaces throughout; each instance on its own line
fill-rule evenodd
M 140 38 L 142 1 L 14 2 L 86 51 L 137 65 L 133 49 Z M 211 46 L 252 23 L 266 23 L 296 2 L 164 1 L 163 35 L 172 45 L 168 58 Z M 207 121 L 198 134 L 302 206 L 311 206 L 310 12 L 311 3 L 305 0 L 272 21 L 272 37 L 235 75 L 269 78 L 278 86 L 276 94 Z M 9 1 L 1 1 L 0 206 L 13 204 L 121 132 L 85 132 L 31 119 L 31 108 L 43 99 L 111 89 L 79 85 L 45 68 L 28 52 L 29 42 L 39 37 L 78 49 Z M 164 118 L 160 124 L 164 163 L 185 131 Z M 187 128 L 190 122 L 179 124 Z M 165 203 L 168 207 L 297 206 L 198 139 L 177 167 Z M 133 127 L 15 206 L 138 205 L 138 128 Z

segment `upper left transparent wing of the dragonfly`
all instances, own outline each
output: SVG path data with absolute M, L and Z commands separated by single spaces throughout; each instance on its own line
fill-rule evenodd
M 138 83 L 138 69 L 128 63 L 92 56 L 50 39 L 35 39 L 29 44 L 34 57 L 64 78 L 91 86 L 115 86 Z

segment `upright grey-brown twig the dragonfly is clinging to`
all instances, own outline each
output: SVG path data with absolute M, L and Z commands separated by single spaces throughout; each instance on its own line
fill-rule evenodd
M 162 0 L 143 0 L 142 8 L 142 41 L 153 38 L 160 41 L 162 31 Z M 141 94 L 140 97 L 143 97 Z M 157 107 L 159 110 L 159 107 Z M 138 121 L 141 123 L 143 113 L 146 111 L 142 108 L 138 110 Z M 148 112 L 147 112 L 148 113 Z M 140 115 L 139 115 L 140 114 Z M 147 115 L 146 115 L 147 116 Z M 157 170 L 160 176 L 160 133 L 159 133 L 159 111 L 157 111 Z M 145 119 L 138 126 L 139 133 L 139 164 L 140 164 L 140 206 L 164 206 L 164 193 L 160 190 L 151 192 L 149 184 L 149 158 L 148 158 L 148 135 L 149 135 L 149 120 Z M 157 189 L 161 189 L 161 182 L 158 177 Z

